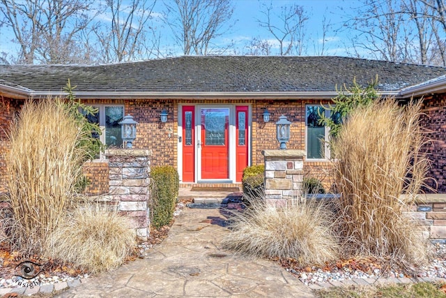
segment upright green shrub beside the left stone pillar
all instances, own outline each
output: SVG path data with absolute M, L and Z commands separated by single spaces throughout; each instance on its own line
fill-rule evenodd
M 180 186 L 178 172 L 169 165 L 151 169 L 151 222 L 155 228 L 169 224 L 174 217 Z

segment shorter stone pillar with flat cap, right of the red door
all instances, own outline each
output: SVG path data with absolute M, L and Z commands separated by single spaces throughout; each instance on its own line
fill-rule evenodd
M 285 206 L 302 195 L 305 151 L 263 150 L 265 161 L 265 199 L 267 204 Z

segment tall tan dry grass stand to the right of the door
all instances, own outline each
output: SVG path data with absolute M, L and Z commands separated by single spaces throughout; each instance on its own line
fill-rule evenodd
M 359 107 L 333 140 L 339 228 L 348 253 L 427 260 L 420 228 L 404 214 L 428 169 L 420 109 L 421 103 L 400 107 L 392 98 Z

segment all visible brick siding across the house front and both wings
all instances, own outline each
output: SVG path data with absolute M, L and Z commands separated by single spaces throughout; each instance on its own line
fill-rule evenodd
M 135 149 L 151 149 L 153 151 L 152 165 L 177 166 L 178 159 L 178 105 L 250 105 L 252 107 L 252 165 L 263 163 L 261 151 L 265 149 L 277 149 L 279 143 L 276 140 L 275 121 L 282 114 L 288 117 L 291 124 L 291 140 L 287 144 L 289 149 L 305 150 L 305 106 L 307 104 L 327 104 L 329 100 L 169 100 L 169 99 L 132 99 L 132 100 L 84 100 L 87 104 L 116 104 L 125 106 L 125 114 L 131 114 L 139 123 L 138 136 L 134 142 Z M 8 147 L 4 143 L 6 134 L 3 129 L 13 119 L 20 109 L 23 101 L 8 100 L 2 98 L 0 112 L 0 150 Z M 160 122 L 160 113 L 167 110 L 167 123 Z M 270 122 L 263 122 L 265 109 L 271 114 Z M 428 184 L 438 189 L 438 192 L 446 192 L 446 94 L 425 96 L 424 110 L 426 117 L 424 126 L 431 130 L 428 137 L 435 140 L 426 148 L 429 150 L 429 158 L 432 167 L 429 177 L 435 177 L 438 187 L 433 180 Z M 170 135 L 170 136 L 169 136 Z M 98 167 L 94 169 L 94 167 Z M 89 193 L 102 193 L 107 187 L 104 165 L 97 163 L 89 165 L 87 175 L 98 177 L 98 181 L 89 186 Z M 326 189 L 330 189 L 330 163 L 328 161 L 305 161 L 305 174 L 323 181 Z M 91 174 L 88 174 L 90 171 Z M 0 191 L 5 185 L 4 157 L 0 156 Z

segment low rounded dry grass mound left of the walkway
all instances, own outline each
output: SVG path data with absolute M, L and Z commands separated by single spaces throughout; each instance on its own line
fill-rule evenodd
M 116 211 L 91 208 L 68 214 L 49 234 L 45 251 L 48 257 L 96 274 L 123 264 L 134 251 L 136 235 Z

